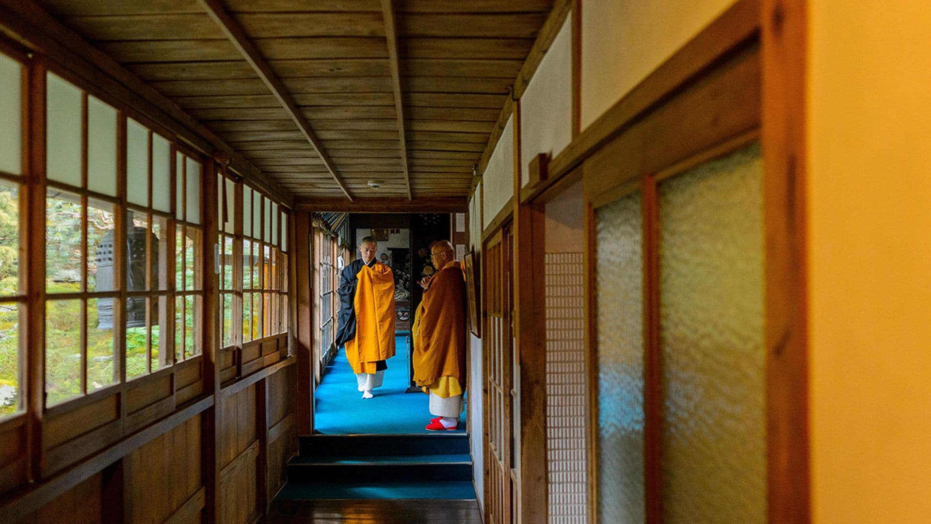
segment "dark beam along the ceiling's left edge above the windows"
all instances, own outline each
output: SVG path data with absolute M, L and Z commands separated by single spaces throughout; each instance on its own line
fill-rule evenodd
M 291 205 L 293 198 L 290 192 L 282 190 L 274 180 L 263 176 L 249 160 L 162 93 L 100 49 L 88 44 L 80 34 L 62 25 L 31 0 L 0 3 L 0 33 L 7 34 L 27 48 L 45 53 L 51 61 L 151 118 L 164 127 L 167 134 L 174 134 L 203 155 L 209 157 L 215 149 L 222 149 L 229 154 L 236 172 L 255 186 L 263 188 L 270 196 Z

